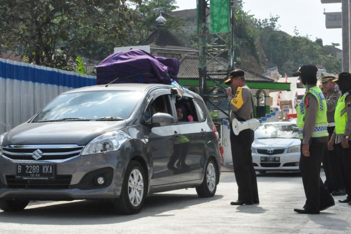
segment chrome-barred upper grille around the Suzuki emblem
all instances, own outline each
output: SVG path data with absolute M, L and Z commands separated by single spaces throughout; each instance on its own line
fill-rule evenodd
M 2 147 L 2 154 L 13 160 L 35 160 L 33 152 L 38 151 L 37 160 L 68 159 L 80 155 L 84 146 L 78 145 L 16 145 Z M 34 156 L 34 157 L 33 157 Z

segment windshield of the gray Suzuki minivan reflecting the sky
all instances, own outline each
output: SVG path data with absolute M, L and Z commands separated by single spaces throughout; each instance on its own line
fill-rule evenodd
M 127 119 L 141 91 L 89 91 L 67 93 L 48 103 L 32 122 L 52 121 L 119 121 Z

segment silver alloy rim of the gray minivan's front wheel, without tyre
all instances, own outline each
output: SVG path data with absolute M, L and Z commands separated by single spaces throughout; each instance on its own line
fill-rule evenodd
M 139 206 L 143 200 L 144 180 L 143 175 L 138 169 L 134 169 L 129 175 L 128 195 L 133 206 Z

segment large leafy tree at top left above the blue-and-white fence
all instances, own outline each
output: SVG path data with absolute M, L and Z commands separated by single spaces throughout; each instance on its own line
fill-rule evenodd
M 0 49 L 71 70 L 77 54 L 106 56 L 123 45 L 134 16 L 125 0 L 2 0 Z

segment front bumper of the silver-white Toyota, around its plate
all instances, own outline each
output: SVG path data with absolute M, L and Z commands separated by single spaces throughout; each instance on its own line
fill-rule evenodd
M 261 157 L 279 157 L 279 162 L 261 162 Z M 252 153 L 253 168 L 257 171 L 299 171 L 300 153 L 258 154 Z

